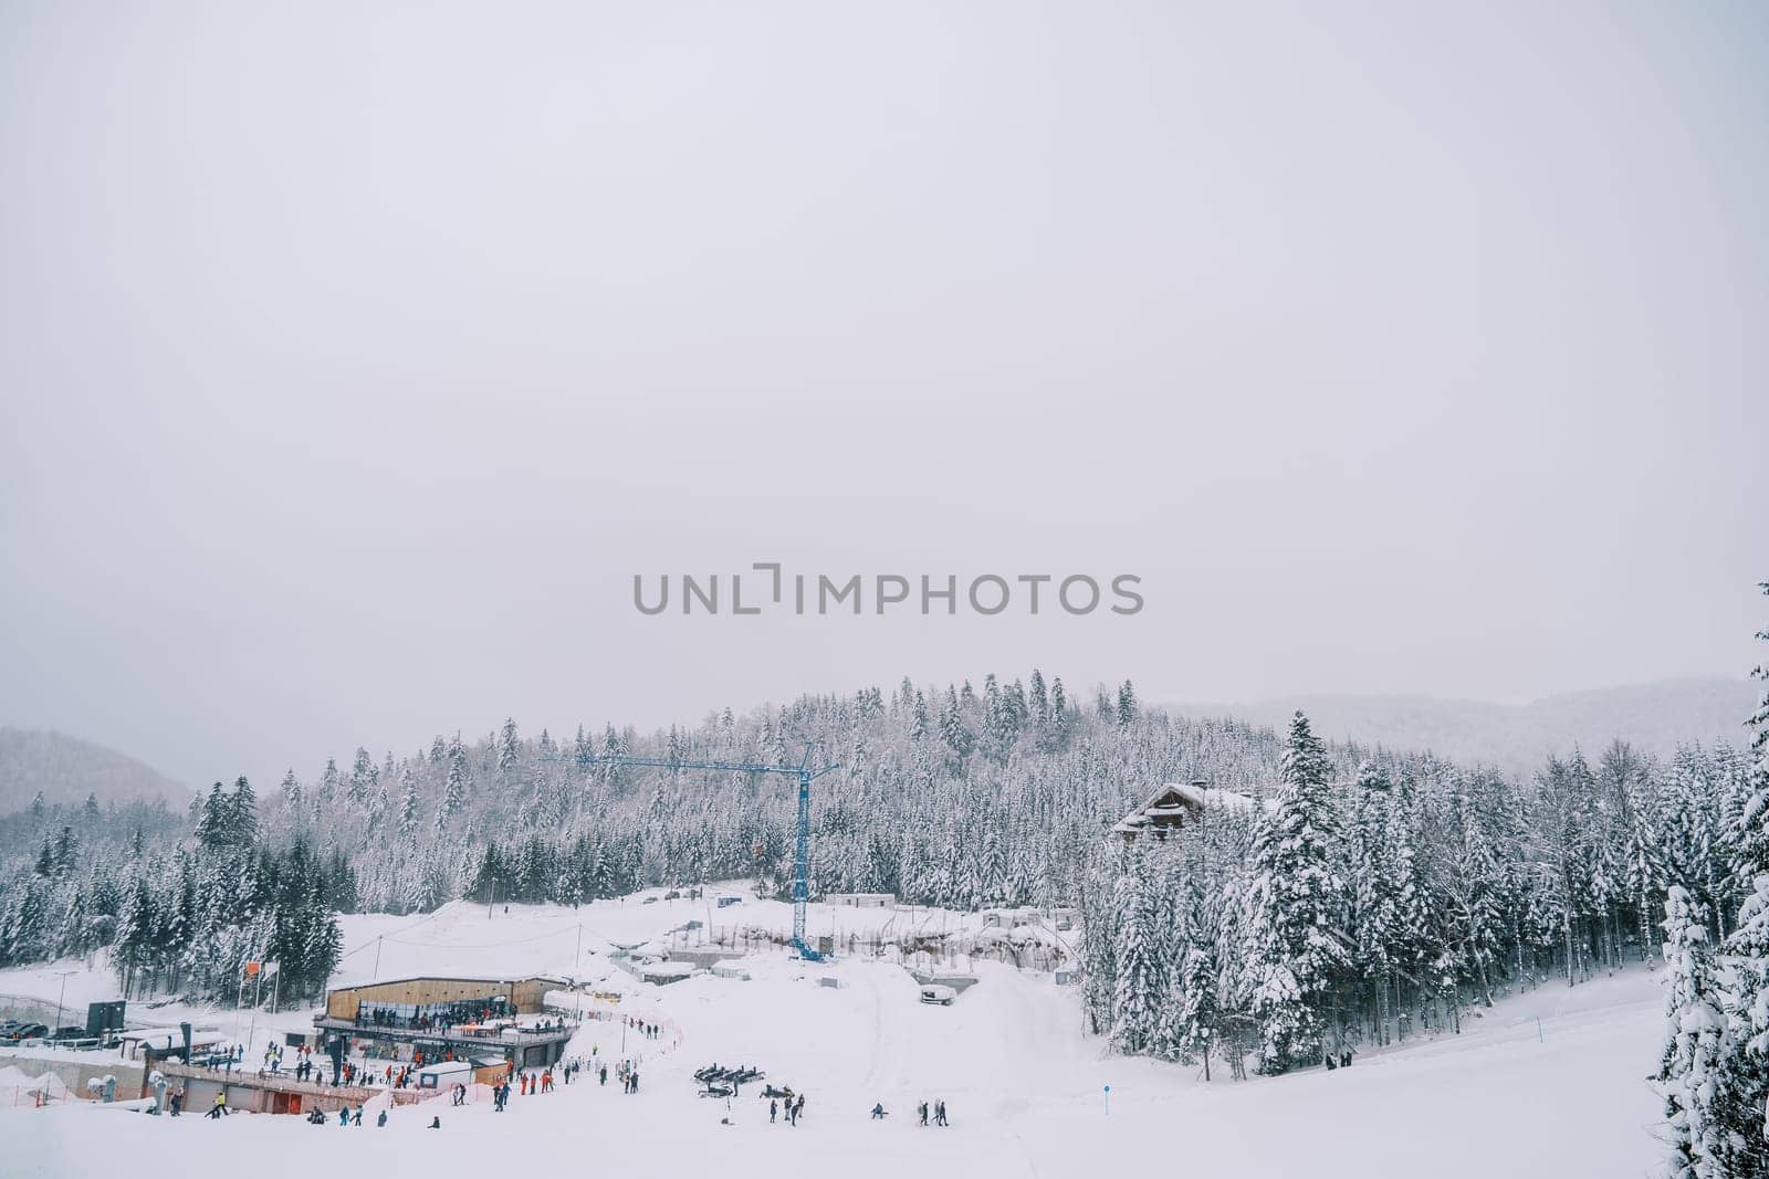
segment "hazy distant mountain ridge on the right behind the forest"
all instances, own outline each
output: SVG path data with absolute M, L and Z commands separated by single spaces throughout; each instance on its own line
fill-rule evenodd
M 1748 741 L 1758 686 L 1746 679 L 1673 679 L 1560 693 L 1532 704 L 1433 696 L 1298 695 L 1244 704 L 1168 704 L 1182 716 L 1233 716 L 1279 732 L 1302 709 L 1314 732 L 1362 746 L 1415 749 L 1461 764 L 1532 774 L 1574 746 L 1596 757 L 1620 739 L 1658 757 L 1679 744 Z

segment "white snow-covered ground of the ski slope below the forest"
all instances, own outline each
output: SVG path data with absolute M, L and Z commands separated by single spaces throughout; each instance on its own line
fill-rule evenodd
M 1647 1175 L 1659 1156 L 1656 977 L 1631 970 L 1578 988 L 1543 986 L 1465 1022 L 1456 1038 L 1366 1053 L 1352 1069 L 1242 1084 L 1205 1084 L 1198 1069 L 1102 1055 L 1081 1036 L 1077 997 L 1049 976 L 978 962 L 982 979 L 952 1008 L 922 1006 L 892 963 L 831 967 L 757 953 L 752 977 L 699 974 L 658 988 L 619 972 L 610 944 L 667 940 L 704 901 L 600 901 L 559 907 L 449 905 L 428 917 L 347 917 L 338 981 L 407 974 L 550 972 L 603 979 L 621 1011 L 667 1020 L 681 1045 L 621 1045 L 617 1023 L 587 1023 L 571 1053 L 642 1055 L 640 1092 L 573 1084 L 511 1108 L 423 1105 L 387 1128 L 343 1135 L 295 1117 L 154 1119 L 73 1105 L 0 1114 L 0 1174 L 251 1172 L 262 1179 L 370 1168 L 370 1174 L 479 1175 L 515 1167 L 589 1167 L 616 1174 L 1083 1175 L 1118 1168 L 1238 1175 Z M 810 932 L 860 932 L 909 914 L 814 907 Z M 915 914 L 936 928 L 980 928 L 975 916 Z M 713 910 L 715 926 L 784 930 L 787 905 L 747 900 Z M 893 926 L 893 930 L 902 928 Z M 681 935 L 678 935 L 679 939 Z M 375 956 L 379 955 L 379 970 Z M 46 995 L 58 967 L 0 972 L 0 993 Z M 828 976 L 839 988 L 821 985 Z M 111 997 L 103 974 L 67 977 L 67 1002 Z M 232 1029 L 232 1011 L 184 1015 Z M 310 1011 L 258 1016 L 304 1027 Z M 244 1029 L 244 1023 L 241 1025 Z M 697 1096 L 708 1062 L 754 1064 L 807 1094 L 800 1126 L 768 1124 L 761 1085 L 731 1103 Z M 5 1064 L 0 1053 L 0 1066 Z M 1111 1085 L 1109 1107 L 1106 1085 Z M 913 1124 L 920 1099 L 946 1101 L 952 1126 Z M 869 1119 L 883 1101 L 890 1117 Z M 439 1131 L 426 1130 L 440 1115 Z M 729 1117 L 731 1124 L 722 1124 Z M 370 1122 L 373 1114 L 370 1115 Z M 161 1165 L 163 1160 L 163 1165 Z M 177 1160 L 173 1163 L 173 1160 Z M 391 1170 L 389 1170 L 391 1168 Z

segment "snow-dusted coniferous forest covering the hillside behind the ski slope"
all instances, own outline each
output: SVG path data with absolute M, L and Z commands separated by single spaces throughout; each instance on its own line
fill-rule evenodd
M 39 799 L 0 820 L 0 963 L 103 951 L 127 993 L 232 1002 L 264 958 L 302 997 L 338 962 L 338 912 L 784 893 L 787 780 L 593 758 L 796 765 L 808 744 L 840 762 L 816 788 L 816 891 L 1076 907 L 1086 1023 L 1116 1052 L 1226 1076 L 1343 1066 L 1514 988 L 1654 962 L 1672 1126 L 1691 1160 L 1734 1151 L 1702 1174 L 1764 1174 L 1737 1154 L 1769 1078 L 1769 714 L 1750 719 L 1750 748 L 1567 749 L 1527 781 L 1323 742 L 1300 714 L 1286 734 L 1176 718 L 1129 682 L 1077 700 L 1037 670 L 655 734 L 504 721 L 290 771 L 267 797 L 216 783 L 186 813 Z M 1192 780 L 1251 804 L 1160 841 L 1109 833 Z

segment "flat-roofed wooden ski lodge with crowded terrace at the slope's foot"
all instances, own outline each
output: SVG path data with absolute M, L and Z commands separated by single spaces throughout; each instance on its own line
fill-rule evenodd
M 545 1015 L 547 992 L 566 986 L 545 976 L 363 983 L 325 992 L 325 1011 L 313 1016 L 313 1027 L 327 1041 L 347 1039 L 350 1052 L 387 1061 L 414 1061 L 417 1053 L 426 1064 L 502 1057 L 518 1069 L 545 1068 L 564 1055 L 577 1031 Z

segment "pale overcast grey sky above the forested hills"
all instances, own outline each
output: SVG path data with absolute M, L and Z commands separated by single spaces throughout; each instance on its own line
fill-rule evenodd
M 1429 9 L 1429 11 L 1428 11 Z M 0 723 L 1742 675 L 1760 4 L 0 2 Z M 640 617 L 632 574 L 1143 576 Z

